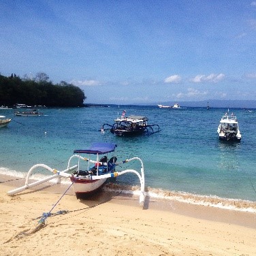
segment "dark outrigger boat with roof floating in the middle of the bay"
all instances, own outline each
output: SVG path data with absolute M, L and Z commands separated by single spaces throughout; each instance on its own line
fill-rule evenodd
M 101 128 L 101 133 L 110 130 L 111 133 L 123 136 L 151 135 L 160 130 L 159 125 L 148 125 L 146 116 L 125 116 L 125 110 L 120 118 L 114 120 L 113 125 L 104 124 Z

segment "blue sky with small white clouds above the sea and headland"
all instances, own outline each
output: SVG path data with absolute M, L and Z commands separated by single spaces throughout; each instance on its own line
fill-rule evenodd
M 0 1 L 0 74 L 86 103 L 256 99 L 256 0 Z

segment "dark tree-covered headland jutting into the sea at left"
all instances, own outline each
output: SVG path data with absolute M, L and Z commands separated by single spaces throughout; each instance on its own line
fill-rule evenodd
M 47 107 L 83 106 L 86 97 L 78 86 L 64 81 L 52 84 L 48 79 L 44 73 L 38 73 L 33 79 L 20 79 L 15 74 L 9 77 L 0 75 L 0 106 L 16 103 Z

